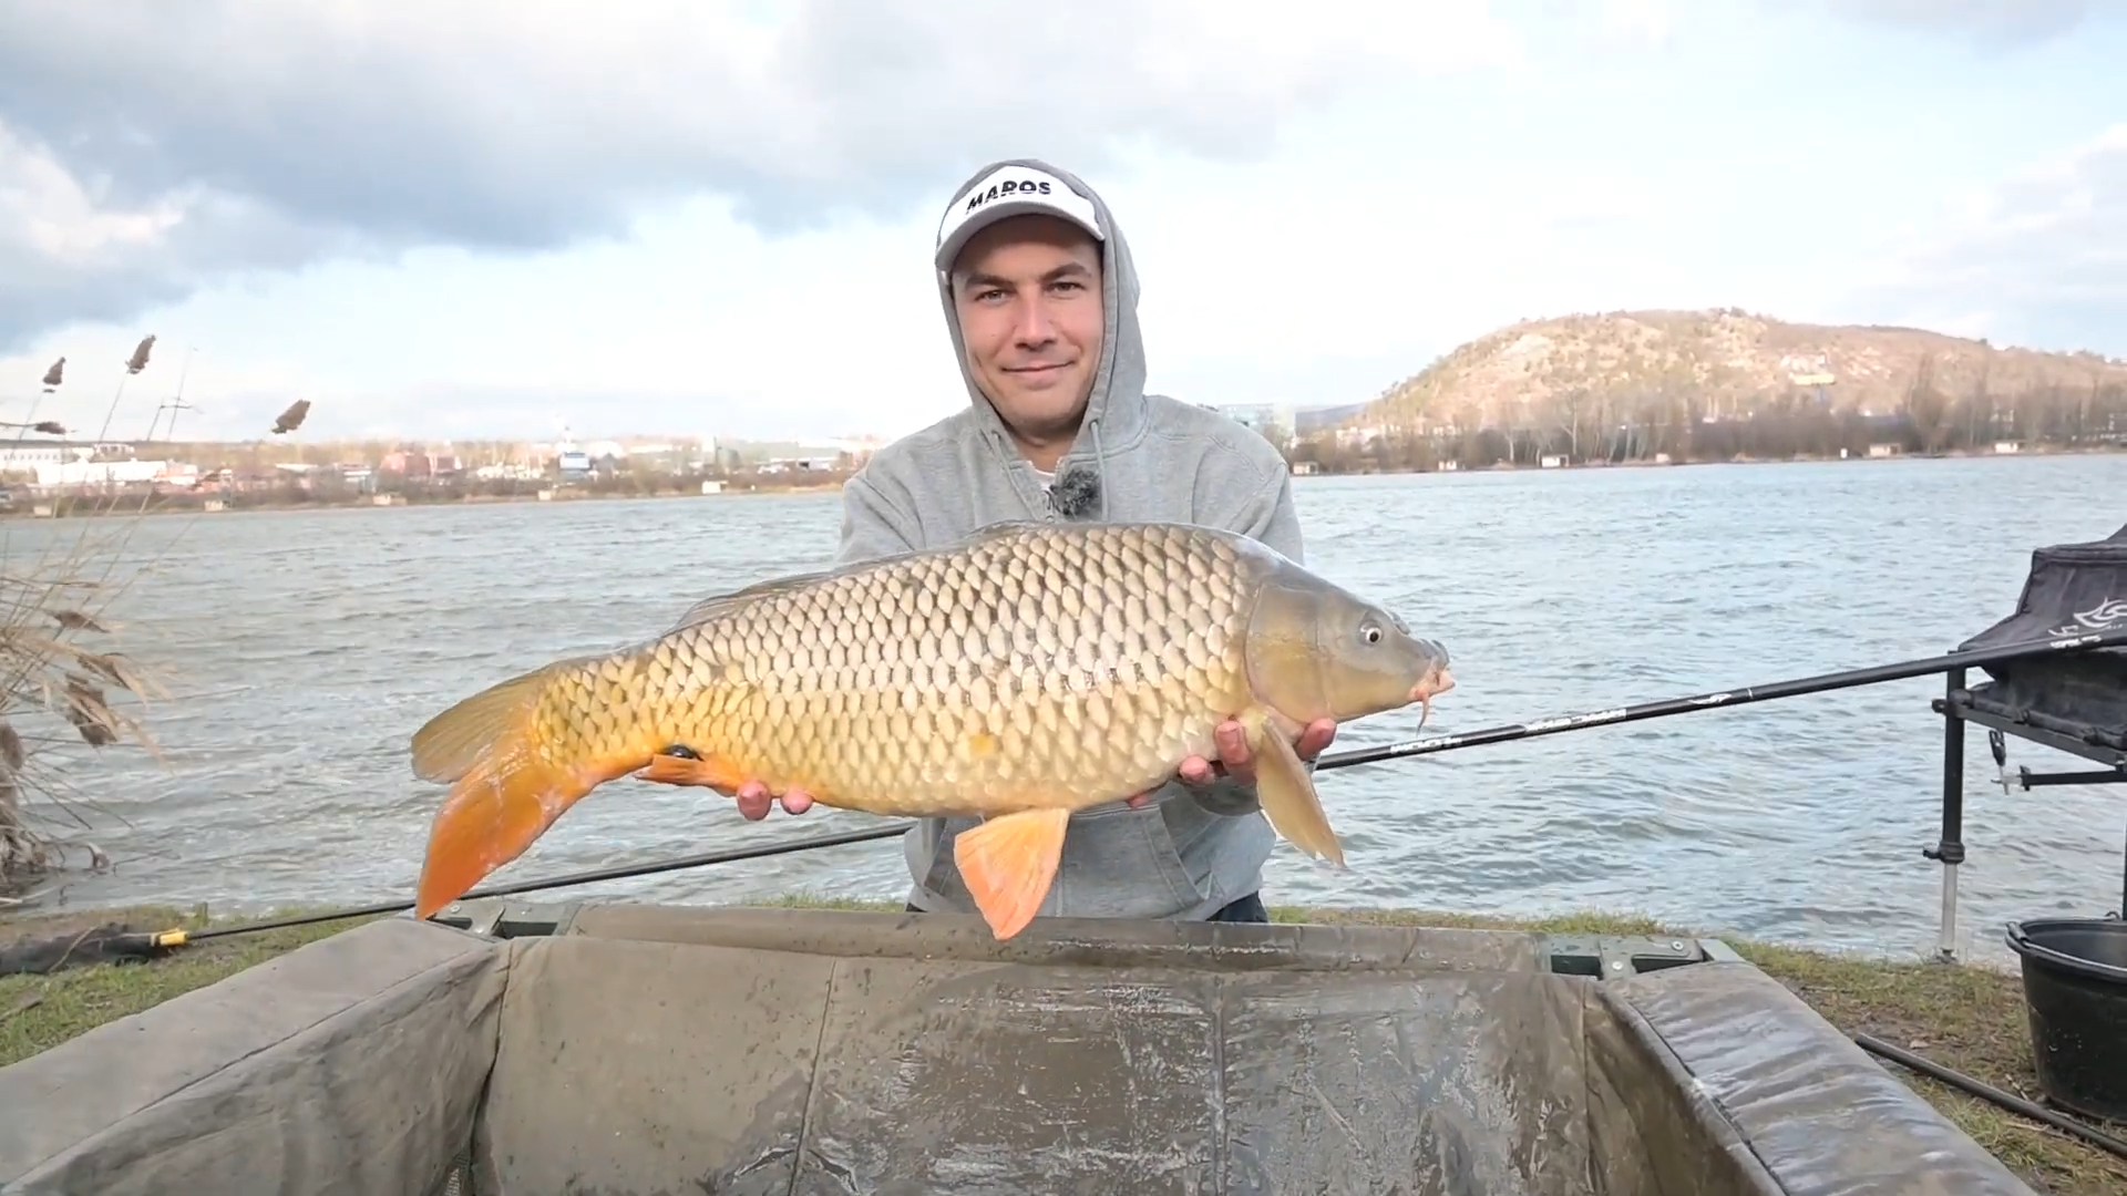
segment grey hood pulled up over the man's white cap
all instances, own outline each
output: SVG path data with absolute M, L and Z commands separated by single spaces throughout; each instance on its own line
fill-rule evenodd
M 1027 179 L 1029 172 L 1046 175 L 1053 181 L 1051 185 L 1068 187 L 1076 200 L 1066 200 L 1064 204 L 1015 204 L 1010 211 L 1059 206 L 1057 215 L 1083 219 L 1083 213 L 1089 209 L 1100 228 L 1100 362 L 1093 368 L 1093 392 L 1087 396 L 1085 421 L 1078 426 L 1078 436 L 1072 441 L 1070 451 L 1057 462 L 1046 506 L 1064 517 L 1098 509 L 1106 521 L 1106 455 L 1129 449 L 1144 436 L 1144 340 L 1138 334 L 1138 268 L 1129 260 L 1129 243 L 1123 238 L 1115 213 L 1108 211 L 1108 202 L 1100 198 L 1100 192 L 1070 170 L 1051 166 L 1038 157 L 1004 157 L 983 166 L 953 189 L 953 200 L 940 219 L 940 234 L 955 226 L 953 217 L 966 211 L 970 200 L 978 200 L 974 194 L 976 185 L 987 196 L 1004 181 L 1015 177 Z M 1002 179 L 991 179 L 993 175 L 1002 175 Z M 1002 215 L 1006 213 L 1000 204 L 1000 215 L 991 219 L 1000 219 Z M 1004 468 L 1010 472 L 1021 496 L 1027 498 L 1029 509 L 1036 509 L 1036 502 L 1042 502 L 1042 498 L 1040 485 L 1034 479 L 1034 466 L 1019 453 L 995 404 L 989 402 L 989 396 L 983 394 L 983 387 L 976 385 L 974 375 L 968 370 L 968 343 L 959 334 L 959 315 L 953 309 L 953 283 L 947 275 L 947 264 L 934 264 L 934 272 L 938 277 L 938 302 L 944 309 L 947 334 L 953 340 L 953 364 L 959 366 L 959 377 L 968 387 L 968 402 L 974 404 L 983 438 L 1002 458 Z

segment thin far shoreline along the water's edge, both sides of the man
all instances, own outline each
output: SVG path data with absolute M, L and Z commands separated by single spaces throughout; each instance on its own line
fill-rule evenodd
M 1942 453 L 1891 453 L 1885 458 L 1827 458 L 1827 455 L 1797 455 L 1797 458 L 1723 458 L 1723 460 L 1682 460 L 1682 462 L 1657 462 L 1657 460 L 1629 460 L 1629 462 L 1572 462 L 1572 464 L 1491 464 L 1472 468 L 1376 468 L 1376 470 L 1342 470 L 1342 472 L 1293 472 L 1300 479 L 1332 479 L 1332 477 L 1425 477 L 1425 475 L 1493 475 L 1493 472 L 1585 472 L 1585 470 L 1619 470 L 1619 468 L 1719 468 L 1719 466 L 1802 466 L 1802 464 L 1893 464 L 1893 462 L 1933 462 L 1933 460 L 2057 460 L 2057 458 L 2101 458 L 2101 455 L 2127 455 L 2127 445 L 2093 445 L 2093 447 L 2040 447 L 2023 453 L 1982 453 L 1970 449 L 1955 449 Z M 1304 462 L 1302 462 L 1304 464 Z M 134 498 L 98 498 L 98 496 L 66 496 L 66 498 L 17 498 L 13 506 L 0 509 L 0 521 L 4 519 L 108 519 L 108 517 L 145 517 L 145 515 L 257 515 L 257 513 L 289 513 L 289 511 L 406 511 L 406 509 L 428 509 L 428 506 L 500 506 L 519 502 L 625 502 L 625 500 L 672 500 L 672 498 L 781 498 L 793 494 L 838 494 L 847 479 L 821 481 L 810 485 L 736 485 L 725 481 L 730 489 L 715 494 L 702 494 L 698 489 L 655 489 L 655 492 L 591 492 L 579 487 L 559 485 L 536 485 L 525 492 L 515 494 L 415 494 L 415 496 L 357 496 L 357 498 L 332 498 L 332 500 L 285 500 L 285 498 L 259 498 L 245 500 L 221 498 L 225 502 L 219 511 L 208 511 L 208 498 L 196 498 L 191 494 L 166 494 L 157 496 L 149 504 L 140 504 Z M 540 494 L 547 498 L 540 498 Z M 379 502 L 376 498 L 389 498 Z M 51 513 L 38 513 L 38 506 L 51 506 Z

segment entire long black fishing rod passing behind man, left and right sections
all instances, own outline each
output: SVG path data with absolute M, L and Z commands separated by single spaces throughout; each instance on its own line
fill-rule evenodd
M 1916 660 L 1902 660 L 1897 664 L 1878 664 L 1872 668 L 1848 668 L 1842 672 L 1819 672 L 1814 677 L 1797 677 L 1793 681 L 1774 681 L 1768 685 L 1746 685 L 1740 690 L 1714 690 L 1708 694 L 1693 694 L 1689 698 L 1665 698 L 1661 702 L 1642 702 L 1638 707 L 1617 707 L 1608 711 L 1589 711 L 1578 715 L 1559 715 L 1551 719 L 1536 719 L 1529 724 L 1506 724 L 1485 730 L 1474 730 L 1466 734 L 1438 734 L 1431 738 L 1417 738 L 1408 743 L 1391 743 L 1385 747 L 1361 747 L 1353 751 L 1332 751 L 1314 762 L 1317 770 L 1323 768 L 1349 768 L 1355 764 L 1378 764 L 1385 760 L 1404 760 L 1410 755 L 1431 755 L 1440 751 L 1457 751 L 1463 747 L 1483 747 L 1489 743 L 1514 743 L 1521 738 L 1538 738 L 1546 734 L 1561 734 L 1570 730 L 1587 730 L 1597 726 L 1629 724 L 1644 719 L 1659 719 L 1670 715 L 1689 715 L 1693 711 L 1714 711 L 1725 707 L 1744 707 L 1751 702 L 1772 702 L 1776 698 L 1802 698 L 1810 694 L 1829 694 L 1836 690 L 1855 690 L 1861 685 L 1880 685 L 1885 681 L 1904 681 L 1910 677 L 1927 677 L 1931 672 L 1950 672 L 1955 668 L 1982 668 L 1989 664 L 2004 664 L 2010 660 L 2027 660 L 2038 655 L 2065 655 L 2076 651 L 2093 651 L 2104 647 L 2127 645 L 2127 628 L 2114 628 L 2106 632 L 2087 632 L 2080 636 L 2061 638 L 2040 638 L 2023 641 L 1989 649 L 1953 651 L 1942 655 L 1923 655 Z M 844 847 L 851 843 L 870 843 L 876 838 L 893 838 L 908 832 L 908 821 L 895 821 L 891 826 L 881 826 L 872 830 L 849 830 L 840 834 L 815 834 L 795 838 L 789 843 L 770 843 L 761 847 L 736 847 L 725 851 L 702 851 L 696 856 L 679 856 L 672 860 L 655 860 L 649 864 L 621 864 L 613 868 L 593 868 L 589 873 L 566 873 L 559 877 L 545 877 L 534 881 L 515 881 L 506 885 L 485 885 L 470 890 L 459 900 L 481 900 L 491 896 L 517 896 L 545 890 L 562 890 L 574 885 L 591 885 L 602 881 L 625 881 L 634 877 L 651 877 L 659 873 L 679 873 L 685 868 L 706 868 L 713 864 L 736 864 L 740 860 L 764 860 L 770 856 L 789 856 L 795 851 L 813 851 L 817 847 Z M 204 943 L 211 938 L 225 938 L 234 934 L 257 934 L 264 930 L 289 930 L 298 926 L 315 926 L 319 921 L 342 921 L 351 917 L 381 917 L 391 913 L 404 913 L 413 909 L 415 902 L 379 902 L 366 907 L 336 909 L 325 913 L 306 913 L 296 917 L 277 917 L 272 921 L 253 921 L 245 926 L 223 926 L 215 930 L 162 930 L 162 932 L 117 932 L 106 928 L 106 932 L 96 941 L 96 949 L 87 951 L 81 962 L 98 962 L 96 956 L 108 958 L 149 958 L 162 951 L 185 947 L 189 943 Z M 62 943 L 81 943 L 81 936 L 62 938 Z M 85 943 L 83 943 L 85 945 Z M 43 945 L 40 945 L 43 947 Z M 11 966 L 0 951 L 0 975 L 11 970 L 28 970 Z M 49 970 L 49 968 L 36 968 Z

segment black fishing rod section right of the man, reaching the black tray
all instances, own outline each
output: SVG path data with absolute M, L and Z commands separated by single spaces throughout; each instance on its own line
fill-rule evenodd
M 1391 743 L 1385 747 L 1332 751 L 1321 760 L 1317 760 L 1314 768 L 1321 770 L 1321 768 L 1349 768 L 1353 764 L 1378 764 L 1383 760 L 1431 755 L 1436 751 L 1483 747 L 1487 743 L 1514 743 L 1521 738 L 1536 738 L 1542 734 L 1561 734 L 1568 730 L 1587 730 L 1595 726 L 1636 724 L 1644 719 L 1665 719 L 1670 715 L 1689 715 L 1693 711 L 1746 707 L 1751 702 L 1772 702 L 1776 698 L 1806 698 L 1810 694 L 1829 694 L 1833 690 L 1855 690 L 1861 685 L 1882 685 L 1885 681 L 1904 681 L 1908 677 L 1927 677 L 1931 672 L 1950 672 L 1957 668 L 1984 668 L 1989 664 L 2004 664 L 2010 660 L 2027 660 L 2036 655 L 2065 655 L 2076 651 L 2093 651 L 2101 647 L 2127 647 L 2127 628 L 2112 628 L 2106 632 L 2084 632 L 2078 636 L 2063 636 L 2063 638 L 2023 641 L 2023 643 L 2010 643 L 2002 647 L 1984 647 L 1972 651 L 1950 651 L 1944 655 L 1923 655 L 1916 660 L 1902 660 L 1897 664 L 1848 668 L 1844 672 L 1819 672 L 1816 677 L 1797 677 L 1793 681 L 1774 681 L 1770 685 L 1744 685 L 1742 690 L 1714 690 L 1710 694 L 1693 694 L 1689 698 L 1665 698 L 1661 702 L 1640 702 L 1638 707 L 1612 707 L 1608 711 L 1587 711 L 1578 715 L 1536 719 L 1534 724 L 1506 724 L 1463 734 L 1436 734 L 1429 738 L 1412 738 L 1406 743 Z

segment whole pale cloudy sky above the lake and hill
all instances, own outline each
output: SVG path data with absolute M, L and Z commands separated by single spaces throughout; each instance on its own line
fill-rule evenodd
M 1200 402 L 1631 306 L 2127 355 L 2123 9 L 6 0 L 0 419 L 94 432 L 155 332 L 113 434 L 187 349 L 187 434 L 910 432 L 938 211 L 1019 153 Z

